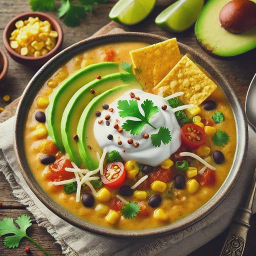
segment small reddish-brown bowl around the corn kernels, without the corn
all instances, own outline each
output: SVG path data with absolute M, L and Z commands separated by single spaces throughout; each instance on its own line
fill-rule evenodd
M 9 44 L 10 34 L 16 28 L 15 22 L 18 20 L 25 20 L 28 17 L 38 17 L 42 21 L 48 20 L 52 28 L 58 33 L 56 45 L 54 46 L 54 48 L 50 50 L 48 53 L 39 57 L 22 56 L 21 54 L 17 53 L 14 49 L 12 49 Z M 62 41 L 63 41 L 63 31 L 58 21 L 51 15 L 43 12 L 38 12 L 38 11 L 29 11 L 29 12 L 21 13 L 20 15 L 12 18 L 7 23 L 7 25 L 3 30 L 3 44 L 7 52 L 9 53 L 10 57 L 21 64 L 29 65 L 29 66 L 43 65 L 47 60 L 49 60 L 52 56 L 54 56 L 59 51 Z

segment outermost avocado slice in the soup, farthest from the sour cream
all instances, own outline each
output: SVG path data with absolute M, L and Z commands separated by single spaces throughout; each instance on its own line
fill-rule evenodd
M 69 99 L 81 86 L 94 80 L 97 75 L 103 76 L 118 71 L 118 64 L 114 62 L 91 64 L 67 77 L 54 89 L 49 97 L 50 103 L 46 109 L 46 124 L 49 136 L 61 151 L 64 151 L 64 146 L 61 138 L 60 122 Z

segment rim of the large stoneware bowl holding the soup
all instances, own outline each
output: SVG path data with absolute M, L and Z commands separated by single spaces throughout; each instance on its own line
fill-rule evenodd
M 67 60 L 71 59 L 71 57 L 75 56 L 79 52 L 82 52 L 88 48 L 102 45 L 109 42 L 126 42 L 126 41 L 140 41 L 140 42 L 152 42 L 154 43 L 166 40 L 168 38 L 159 36 L 156 34 L 150 33 L 142 33 L 142 32 L 123 32 L 123 33 L 116 33 L 116 34 L 106 34 L 100 35 L 95 37 L 90 37 L 84 40 L 81 40 L 73 45 L 65 48 L 50 60 L 48 60 L 31 78 L 29 83 L 27 84 L 23 94 L 21 95 L 21 99 L 19 101 L 17 111 L 16 111 L 16 118 L 14 123 L 14 151 L 17 158 L 17 162 L 19 164 L 21 173 L 27 182 L 30 189 L 34 192 L 34 194 L 39 198 L 39 200 L 46 205 L 52 212 L 58 215 L 60 218 L 64 219 L 68 223 L 77 226 L 83 230 L 89 231 L 91 233 L 99 234 L 106 237 L 114 237 L 114 238 L 146 238 L 146 237 L 156 237 L 161 236 L 164 234 L 172 234 L 174 232 L 183 230 L 191 226 L 192 224 L 198 222 L 200 219 L 208 215 L 213 209 L 216 208 L 217 205 L 226 197 L 226 195 L 230 192 L 231 188 L 237 181 L 239 174 L 241 172 L 246 152 L 247 152 L 247 143 L 248 143 L 248 129 L 247 129 L 247 121 L 245 118 L 245 112 L 242 108 L 239 98 L 237 97 L 234 89 L 229 84 L 225 76 L 220 73 L 218 68 L 216 68 L 208 58 L 195 51 L 190 46 L 187 46 L 183 43 L 178 42 L 181 51 L 190 52 L 192 53 L 192 59 L 200 64 L 203 63 L 203 68 L 210 76 L 214 76 L 214 80 L 217 81 L 219 86 L 221 87 L 222 91 L 224 92 L 225 96 L 227 97 L 233 111 L 234 119 L 235 119 L 235 126 L 236 126 L 236 151 L 233 159 L 232 166 L 225 178 L 224 182 L 217 190 L 217 192 L 200 208 L 192 212 L 191 214 L 187 215 L 186 217 L 177 220 L 173 223 L 168 225 L 151 228 L 151 229 L 143 229 L 143 230 L 120 230 L 120 229 L 113 229 L 107 228 L 104 226 L 100 226 L 94 224 L 92 222 L 88 222 L 84 219 L 79 218 L 78 216 L 73 215 L 72 213 L 68 212 L 68 210 L 62 208 L 57 202 L 53 201 L 45 191 L 42 190 L 40 185 L 37 183 L 33 175 L 31 175 L 31 171 L 29 166 L 26 162 L 26 156 L 24 154 L 23 149 L 23 129 L 24 129 L 24 119 L 27 116 L 27 110 L 29 109 L 33 98 L 27 97 L 27 94 L 31 90 L 38 79 L 40 84 L 42 85 L 42 81 L 45 81 L 43 76 L 43 72 L 46 72 L 46 69 L 51 65 L 54 66 L 54 70 L 57 69 L 61 64 L 65 63 Z M 87 46 L 84 46 L 87 45 Z M 71 52 L 69 56 L 68 52 Z M 68 55 L 68 57 L 64 57 L 64 55 Z M 61 64 L 58 62 L 61 60 Z M 205 69 L 206 68 L 206 69 Z M 51 69 L 52 70 L 52 69 Z M 210 71 L 209 71 L 210 70 Z M 48 73 L 48 72 L 46 72 Z M 48 74 L 49 75 L 49 74 Z M 36 91 L 33 91 L 34 96 L 41 88 L 41 85 L 37 85 Z M 35 87 L 33 87 L 35 90 Z M 29 98 L 29 99 L 28 99 Z M 27 101 L 29 100 L 29 101 Z M 24 102 L 27 101 L 28 106 L 27 110 L 25 111 Z

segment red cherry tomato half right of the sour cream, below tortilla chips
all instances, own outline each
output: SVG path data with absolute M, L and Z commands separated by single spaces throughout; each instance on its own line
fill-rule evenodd
M 182 144 L 188 148 L 196 148 L 205 143 L 204 130 L 194 123 L 186 123 L 181 128 Z

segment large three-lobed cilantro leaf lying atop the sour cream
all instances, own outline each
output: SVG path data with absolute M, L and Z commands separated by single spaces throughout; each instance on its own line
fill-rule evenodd
M 143 109 L 144 115 L 142 115 L 138 109 L 138 101 L 131 100 L 119 100 L 118 101 L 118 109 L 120 117 L 137 117 L 140 120 L 126 120 L 122 124 L 122 128 L 126 131 L 130 131 L 132 135 L 138 135 L 143 126 L 145 124 L 150 125 L 152 128 L 156 129 L 151 123 L 149 123 L 149 119 L 158 112 L 158 107 L 153 105 L 152 100 L 144 100 L 141 104 L 141 108 Z

